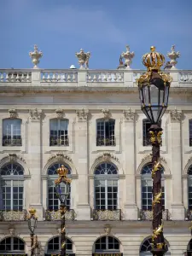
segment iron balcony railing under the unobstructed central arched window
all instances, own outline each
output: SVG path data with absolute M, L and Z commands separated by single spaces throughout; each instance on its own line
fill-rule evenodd
M 93 220 L 121 220 L 121 210 L 92 210 Z

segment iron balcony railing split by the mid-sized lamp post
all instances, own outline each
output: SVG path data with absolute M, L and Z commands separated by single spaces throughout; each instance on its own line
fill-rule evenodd
M 73 209 L 67 210 L 65 214 L 66 220 L 74 220 L 75 212 Z M 61 212 L 60 210 L 46 210 L 45 211 L 45 220 L 46 221 L 54 221 L 61 220 Z

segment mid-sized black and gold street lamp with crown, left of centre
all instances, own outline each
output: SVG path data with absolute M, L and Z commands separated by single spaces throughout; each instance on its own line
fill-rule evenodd
M 58 179 L 55 180 L 56 195 L 58 196 L 61 212 L 61 256 L 66 256 L 66 227 L 65 213 L 67 212 L 66 201 L 69 195 L 72 180 L 67 177 L 68 170 L 63 165 L 57 169 Z

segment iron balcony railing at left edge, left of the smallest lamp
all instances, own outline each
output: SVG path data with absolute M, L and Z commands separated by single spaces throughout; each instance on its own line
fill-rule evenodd
M 0 221 L 26 221 L 26 210 L 0 210 Z

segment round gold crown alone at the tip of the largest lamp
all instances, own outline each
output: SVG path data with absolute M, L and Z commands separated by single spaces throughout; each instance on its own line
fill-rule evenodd
M 159 52 L 155 52 L 155 47 L 151 46 L 151 52 L 143 55 L 143 65 L 150 70 L 160 70 L 165 62 L 164 55 Z

